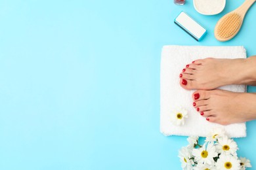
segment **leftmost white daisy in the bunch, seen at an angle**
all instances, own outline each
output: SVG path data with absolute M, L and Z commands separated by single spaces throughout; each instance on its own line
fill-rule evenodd
M 181 150 L 179 150 L 179 158 L 181 161 L 182 169 L 187 169 L 187 170 L 193 169 L 194 161 L 190 159 L 192 158 L 192 155 L 188 147 L 182 147 Z

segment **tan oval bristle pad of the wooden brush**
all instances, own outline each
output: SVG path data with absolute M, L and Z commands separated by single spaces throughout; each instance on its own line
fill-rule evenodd
M 242 24 L 242 18 L 240 15 L 236 13 L 226 14 L 223 16 L 217 25 L 216 34 L 222 39 L 228 39 L 229 37 L 233 37 L 240 29 Z

